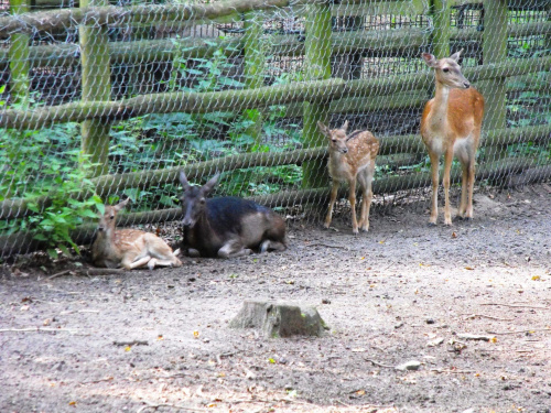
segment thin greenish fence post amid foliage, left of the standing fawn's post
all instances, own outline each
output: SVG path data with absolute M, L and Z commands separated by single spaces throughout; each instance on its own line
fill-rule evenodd
M 248 89 L 264 86 L 266 54 L 262 46 L 262 15 L 259 12 L 249 11 L 245 13 L 245 85 Z M 262 113 L 259 109 L 246 109 L 246 118 L 253 123 L 247 128 L 247 133 L 255 140 L 256 145 L 260 145 L 262 138 Z

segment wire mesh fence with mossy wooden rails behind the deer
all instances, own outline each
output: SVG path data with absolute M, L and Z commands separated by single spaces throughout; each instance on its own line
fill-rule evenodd
M 222 172 L 218 195 L 325 205 L 317 121 L 380 140 L 379 202 L 425 196 L 422 52 L 464 50 L 486 99 L 477 185 L 549 178 L 550 13 L 541 0 L 1 2 L 0 257 L 89 240 L 96 205 L 119 198 L 132 199 L 122 225 L 176 219 L 180 170 Z

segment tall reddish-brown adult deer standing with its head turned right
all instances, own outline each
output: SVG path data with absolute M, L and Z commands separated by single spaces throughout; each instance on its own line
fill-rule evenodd
M 444 154 L 444 224 L 452 225 L 450 210 L 450 171 L 453 156 L 463 166 L 463 181 L 458 216 L 473 218 L 473 188 L 475 184 L 475 155 L 480 141 L 484 97 L 463 76 L 457 64 L 463 51 L 449 58 L 436 59 L 423 53 L 424 62 L 434 68 L 436 93 L 429 100 L 421 119 L 421 137 L 429 151 L 432 172 L 430 225 L 436 225 L 439 215 L 439 164 Z M 467 193 L 468 192 L 468 193 Z

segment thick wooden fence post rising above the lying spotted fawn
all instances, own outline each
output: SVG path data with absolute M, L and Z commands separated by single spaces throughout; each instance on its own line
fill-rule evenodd
M 108 0 L 80 0 L 80 8 L 109 6 Z M 107 26 L 90 22 L 82 24 L 80 65 L 83 101 L 107 101 L 111 96 L 111 68 Z M 90 155 L 89 161 L 97 166 L 91 176 L 104 175 L 108 171 L 109 131 L 111 127 L 101 119 L 85 120 L 82 123 L 82 150 Z

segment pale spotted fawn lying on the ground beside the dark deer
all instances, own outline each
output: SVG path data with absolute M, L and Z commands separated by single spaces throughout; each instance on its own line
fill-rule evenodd
M 127 270 L 155 265 L 180 267 L 182 262 L 166 242 L 154 233 L 138 229 L 115 229 L 117 214 L 125 208 L 130 198 L 115 206 L 106 205 L 99 218 L 98 236 L 91 246 L 94 265 Z

